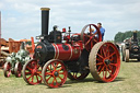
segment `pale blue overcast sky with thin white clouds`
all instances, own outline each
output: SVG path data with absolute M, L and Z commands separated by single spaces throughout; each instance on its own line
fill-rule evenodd
M 140 30 L 140 0 L 0 0 L 2 38 L 40 35 L 40 8 L 50 8 L 49 31 L 58 25 L 80 33 L 101 22 L 110 40 L 117 32 Z

